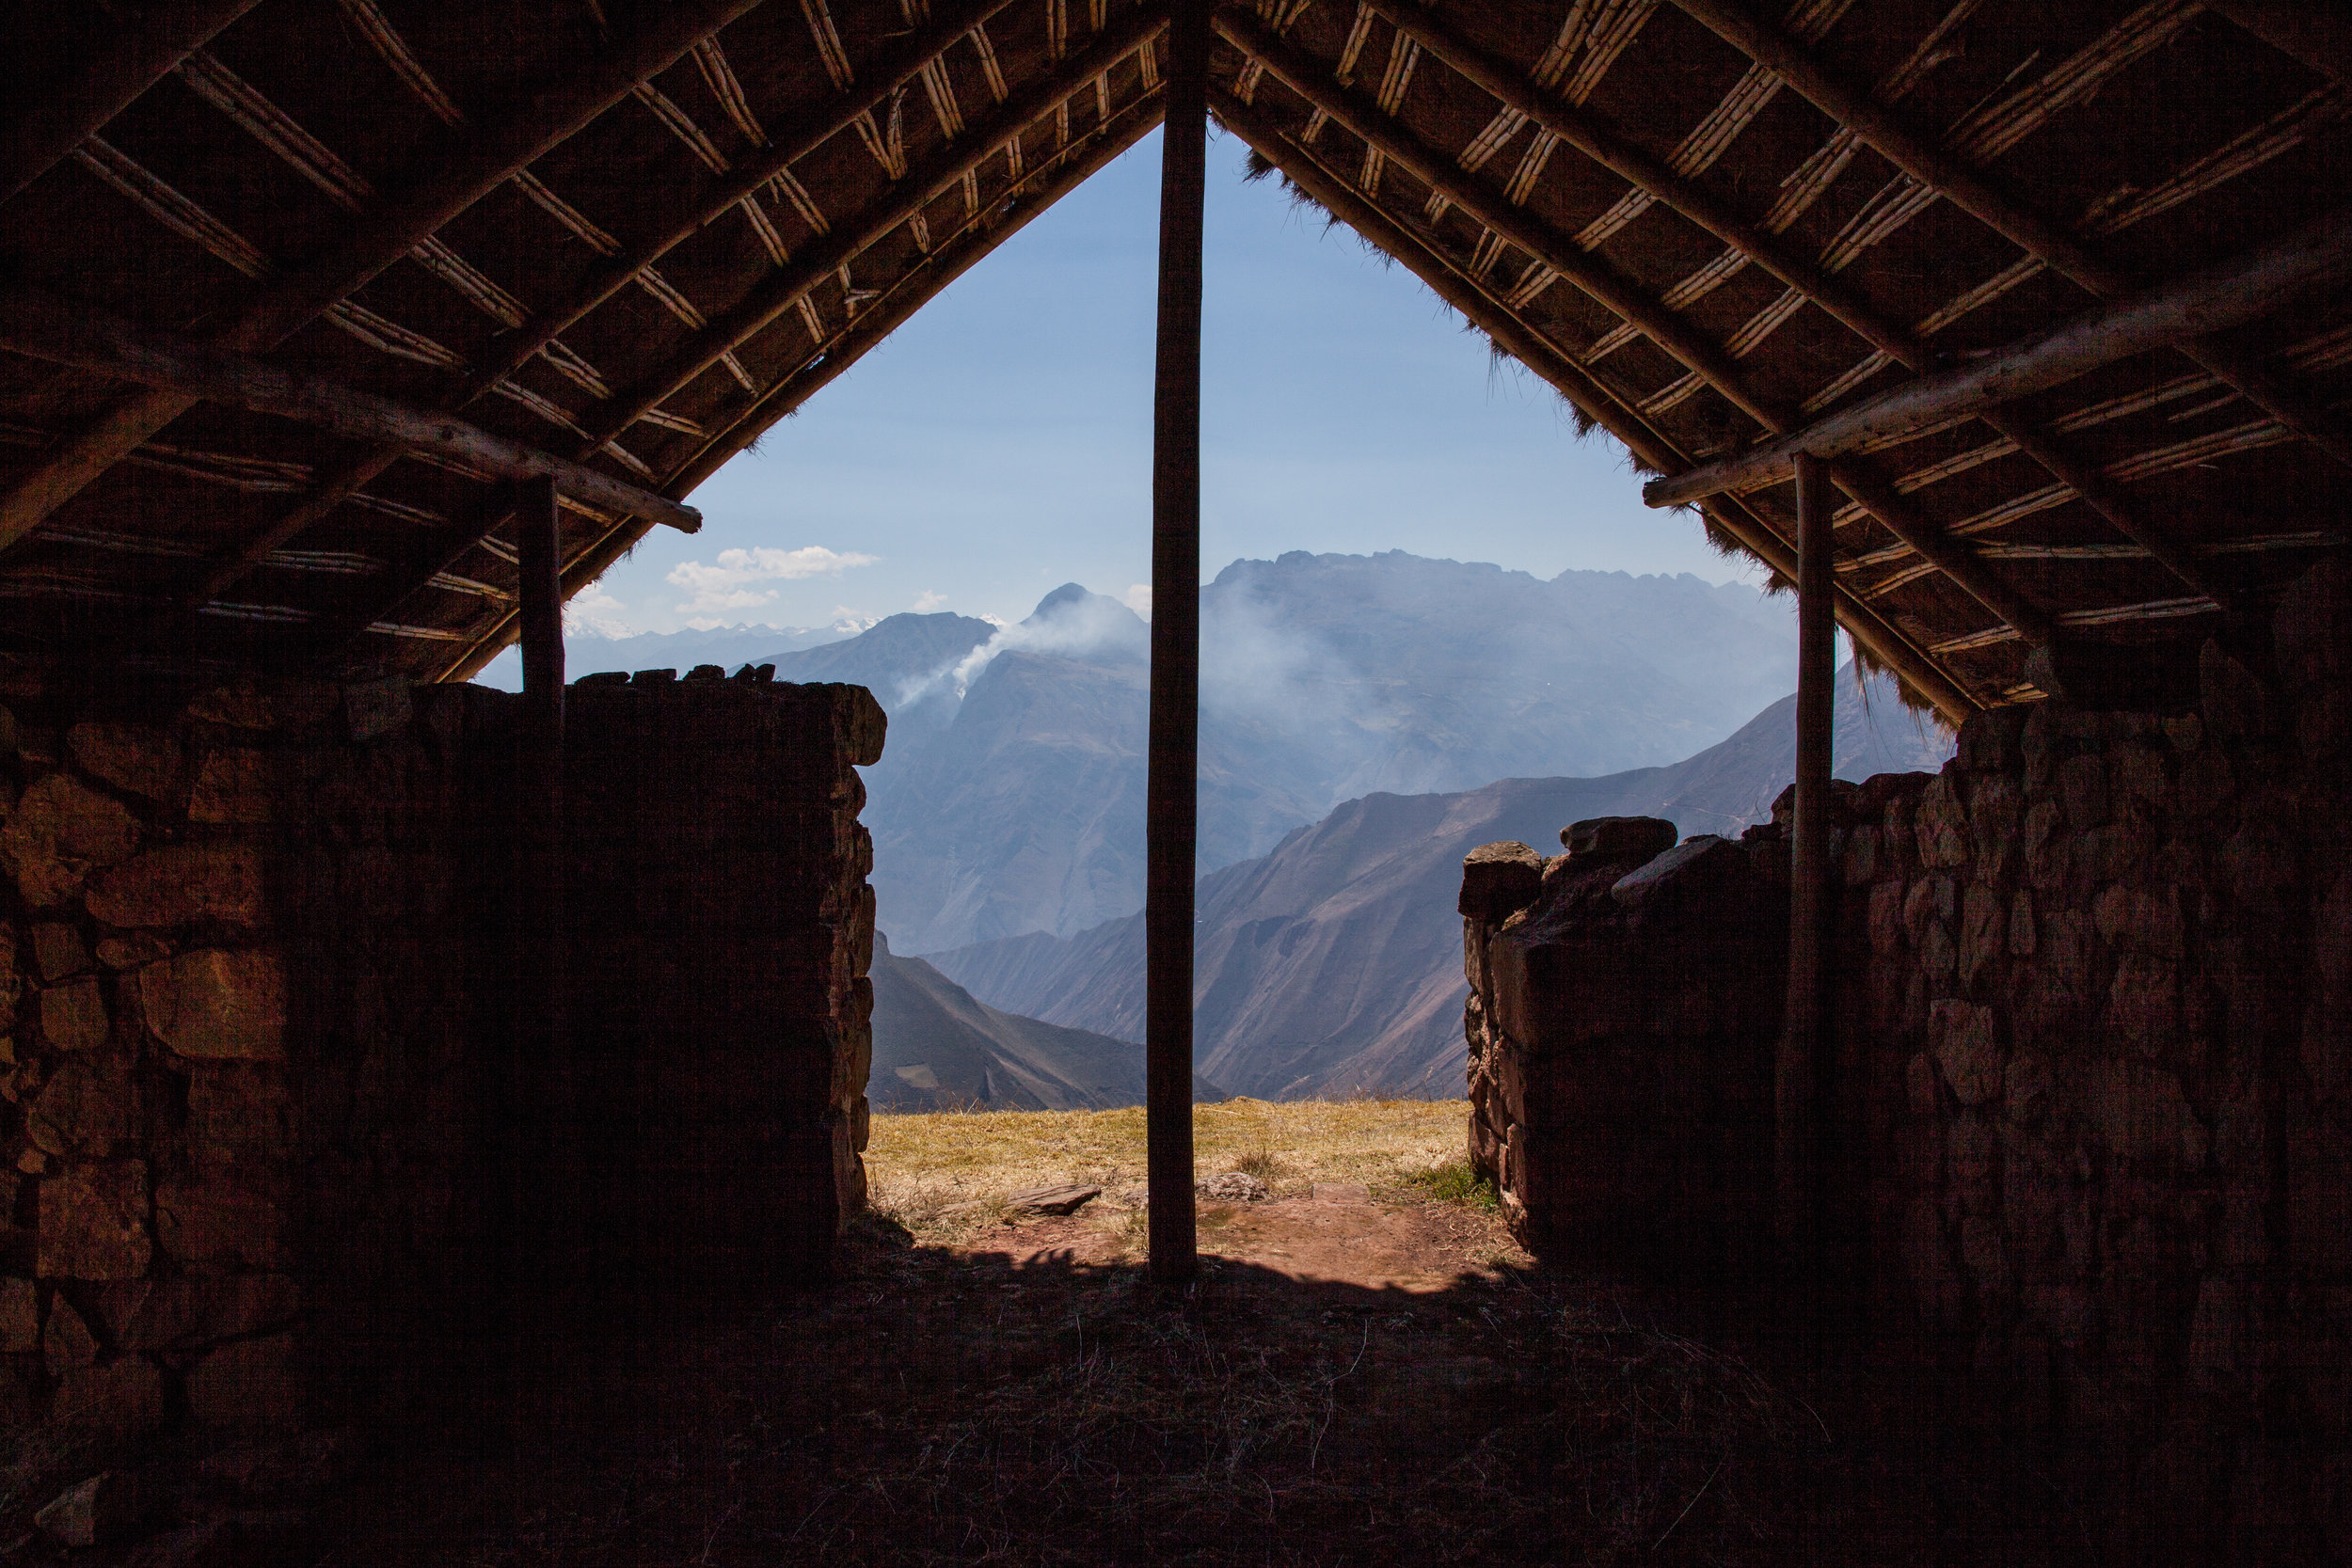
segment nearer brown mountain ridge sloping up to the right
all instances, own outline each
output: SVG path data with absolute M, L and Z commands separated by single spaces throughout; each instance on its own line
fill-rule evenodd
M 1505 778 L 1451 795 L 1376 792 L 1200 884 L 1195 1065 L 1265 1100 L 1461 1093 L 1465 985 L 1454 896 L 1461 858 L 1496 839 L 1557 853 L 1590 816 L 1663 816 L 1684 835 L 1736 835 L 1795 776 L 1797 698 L 1672 766 L 1604 778 Z M 1891 682 L 1839 677 L 1839 778 L 1940 766 L 1950 738 L 1900 708 Z M 1143 1037 L 1143 917 L 931 954 L 997 1009 Z

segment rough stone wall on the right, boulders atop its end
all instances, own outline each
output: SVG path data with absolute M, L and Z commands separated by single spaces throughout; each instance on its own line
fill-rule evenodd
M 2328 564 L 2171 712 L 1994 710 L 1839 790 L 1825 1269 L 2143 1561 L 2352 1540 L 2347 780 Z M 1755 1274 L 1785 865 L 1470 858 L 1470 1152 L 1531 1246 Z

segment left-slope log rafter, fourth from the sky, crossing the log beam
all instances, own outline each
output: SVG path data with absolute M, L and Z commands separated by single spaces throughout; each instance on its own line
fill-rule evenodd
M 315 261 L 273 277 L 230 324 L 209 336 L 209 343 L 233 353 L 275 348 L 487 193 L 579 134 L 637 82 L 652 80 L 696 42 L 757 5 L 760 0 L 677 0 L 659 7 L 652 12 L 659 21 L 647 33 L 621 40 L 612 54 L 560 68 L 536 89 L 517 94 L 520 108 L 513 113 L 468 127 L 470 134 L 452 134 L 447 158 L 426 179 L 360 216 L 353 230 Z M 92 421 L 0 496 L 0 550 L 31 534 L 92 480 L 186 414 L 191 402 L 181 393 L 151 388 Z

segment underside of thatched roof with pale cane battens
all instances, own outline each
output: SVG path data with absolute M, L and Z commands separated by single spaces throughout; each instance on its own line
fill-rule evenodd
M 1150 129 L 1164 63 L 1134 0 L 16 12 L 35 303 L 668 498 Z M 1218 35 L 1228 129 L 1663 475 L 2352 190 L 2347 40 L 2281 0 L 1261 0 Z M 1957 715 L 2037 696 L 2039 644 L 2258 609 L 2343 543 L 2345 303 L 1846 451 L 1842 618 Z M 466 675 L 513 632 L 510 505 L 447 451 L 0 355 L 19 656 Z M 1790 559 L 1783 480 L 1705 510 Z M 579 505 L 564 585 L 647 527 Z

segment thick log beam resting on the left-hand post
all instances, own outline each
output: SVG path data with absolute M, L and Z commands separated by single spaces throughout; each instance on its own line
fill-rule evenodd
M 374 393 L 188 343 L 118 315 L 71 306 L 28 284 L 0 284 L 0 348 L 158 388 L 183 407 L 223 402 L 278 414 L 343 440 L 430 451 L 499 480 L 553 477 L 564 494 L 694 534 L 703 515 L 593 468 L 534 451 L 447 414 L 426 414 Z

